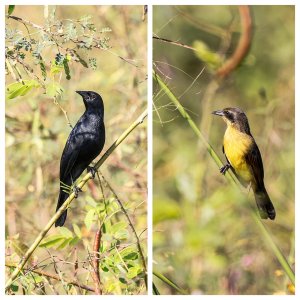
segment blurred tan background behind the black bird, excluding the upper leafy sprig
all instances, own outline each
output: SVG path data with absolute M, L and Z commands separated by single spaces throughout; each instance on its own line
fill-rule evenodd
M 75 125 L 84 112 L 82 99 L 75 91 L 92 90 L 101 94 L 105 106 L 106 126 L 103 154 L 147 107 L 147 20 L 143 20 L 143 6 L 84 5 L 56 6 L 55 9 L 55 17 L 58 20 L 79 20 L 84 16 L 90 16 L 97 29 L 111 29 L 111 32 L 103 33 L 103 36 L 109 38 L 108 50 L 93 49 L 81 53 L 86 61 L 91 57 L 96 58 L 97 68 L 94 70 L 85 68 L 80 63 L 70 62 L 71 79 L 67 80 L 62 72 L 59 84 L 64 92 L 57 98 L 58 103 L 66 110 L 71 124 Z M 13 15 L 45 26 L 46 10 L 50 12 L 53 7 L 16 6 Z M 7 28 L 21 30 L 26 35 L 26 28 L 20 22 L 7 19 L 6 23 Z M 27 27 L 36 38 L 34 34 L 39 30 L 30 25 Z M 42 53 L 46 61 L 47 74 L 57 52 L 57 47 L 53 46 Z M 34 62 L 29 61 L 29 63 L 36 74 L 40 74 Z M 22 68 L 20 70 L 24 79 L 27 79 L 24 70 Z M 6 85 L 14 81 L 8 72 Z M 32 89 L 25 96 L 6 100 L 7 262 L 19 261 L 26 247 L 31 245 L 55 213 L 59 192 L 60 156 L 70 130 L 63 111 L 55 105 L 53 98 L 44 94 L 42 89 Z M 100 168 L 127 209 L 145 255 L 147 248 L 146 132 L 145 121 L 127 137 Z M 100 275 L 103 293 L 143 294 L 146 289 L 143 272 L 139 269 L 140 258 L 137 252 L 128 252 L 127 256 L 125 254 L 127 248 L 136 248 L 135 237 L 105 184 L 103 188 L 107 197 L 106 204 L 110 203 L 114 213 L 107 221 L 107 232 L 103 233 L 101 249 L 103 250 L 104 246 L 107 247 L 110 243 L 118 249 L 115 252 L 107 249 L 101 254 Z M 51 274 L 64 274 L 64 280 L 74 279 L 93 286 L 88 258 L 89 253 L 92 252 L 97 221 L 94 220 L 90 224 L 91 218 L 87 217 L 92 207 L 104 209 L 98 180 L 90 181 L 84 188 L 84 193 L 80 193 L 79 198 L 72 202 L 65 224 L 69 231 L 52 228 L 49 232 L 50 237 L 56 234 L 69 235 L 75 238 L 74 244 L 54 243 L 53 247 L 48 245 L 47 248 L 38 248 L 30 264 L 35 264 Z M 87 223 L 90 228 L 87 228 Z M 131 256 L 128 257 L 128 254 Z M 105 261 L 115 265 L 110 265 L 110 269 L 107 269 L 104 265 Z M 136 274 L 129 276 L 130 266 L 136 266 Z M 6 270 L 9 272 L 9 268 Z M 32 278 L 36 285 L 32 283 Z M 15 285 L 15 293 L 91 293 L 66 285 L 63 280 L 51 280 L 47 276 L 37 276 L 34 273 L 27 278 L 21 276 Z

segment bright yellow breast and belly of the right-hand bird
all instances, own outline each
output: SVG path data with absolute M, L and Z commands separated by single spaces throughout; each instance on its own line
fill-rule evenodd
M 246 182 L 252 179 L 252 170 L 245 160 L 252 142 L 249 135 L 232 126 L 227 127 L 224 135 L 224 152 L 235 172 Z

